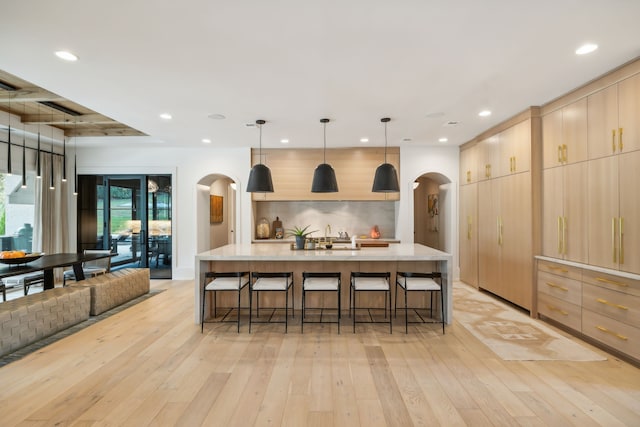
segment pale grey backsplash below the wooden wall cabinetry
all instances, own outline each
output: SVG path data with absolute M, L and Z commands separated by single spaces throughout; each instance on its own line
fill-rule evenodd
M 279 217 L 285 229 L 309 225 L 309 230 L 318 230 L 314 237 L 324 237 L 327 225 L 331 226 L 331 236 L 338 236 L 341 231 L 349 236 L 368 236 L 377 225 L 381 238 L 394 239 L 396 204 L 395 201 L 255 202 L 254 223 L 266 218 L 271 224 Z

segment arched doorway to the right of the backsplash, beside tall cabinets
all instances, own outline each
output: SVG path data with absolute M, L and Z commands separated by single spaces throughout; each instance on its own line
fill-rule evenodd
M 439 173 L 416 178 L 413 190 L 414 242 L 452 253 L 451 181 Z

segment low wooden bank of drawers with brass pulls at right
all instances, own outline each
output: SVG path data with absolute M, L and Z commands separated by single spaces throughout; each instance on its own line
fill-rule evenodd
M 538 313 L 640 360 L 640 276 L 538 260 Z

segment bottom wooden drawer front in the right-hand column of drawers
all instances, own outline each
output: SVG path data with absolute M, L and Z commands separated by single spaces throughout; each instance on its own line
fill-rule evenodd
M 640 329 L 582 310 L 582 333 L 640 360 Z

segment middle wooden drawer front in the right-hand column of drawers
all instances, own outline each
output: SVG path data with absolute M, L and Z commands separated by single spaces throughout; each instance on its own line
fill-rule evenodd
M 582 306 L 627 325 L 640 325 L 640 297 L 585 283 Z

